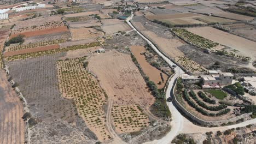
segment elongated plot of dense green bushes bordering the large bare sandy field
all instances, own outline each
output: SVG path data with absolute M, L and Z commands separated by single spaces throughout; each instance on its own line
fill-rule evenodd
M 199 35 L 193 34 L 186 29 L 182 28 L 172 28 L 172 31 L 177 34 L 179 37 L 184 39 L 185 41 L 188 41 L 189 43 L 200 47 L 202 49 L 212 49 L 213 47 L 218 46 L 218 43 L 215 43 L 212 40 L 203 38 Z

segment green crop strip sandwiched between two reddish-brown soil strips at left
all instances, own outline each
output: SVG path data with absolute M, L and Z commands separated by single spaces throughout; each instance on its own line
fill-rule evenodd
M 40 41 L 39 43 L 32 43 L 32 44 L 26 44 L 26 45 L 16 45 L 16 46 L 9 47 L 8 51 L 16 51 L 16 50 L 30 49 L 30 48 L 33 48 L 33 47 L 60 44 L 60 43 L 64 43 L 65 41 L 66 41 L 65 39 L 55 39 L 55 40 L 49 40 L 49 41 Z

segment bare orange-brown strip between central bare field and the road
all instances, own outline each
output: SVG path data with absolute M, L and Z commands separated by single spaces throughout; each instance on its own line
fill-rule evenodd
M 141 53 L 146 52 L 145 47 L 133 45 L 130 46 L 130 48 L 133 55 L 135 55 L 139 65 L 141 65 L 142 70 L 149 77 L 149 80 L 153 81 L 156 84 L 156 86 L 158 86 L 158 88 L 163 88 L 165 86 L 166 81 L 168 80 L 168 76 L 162 73 L 160 70 L 153 67 L 152 65 L 150 65 L 147 62 L 146 57 L 144 55 L 141 55 Z M 162 73 L 164 81 L 162 81 L 160 73 Z M 161 85 L 158 84 L 159 82 L 161 82 Z

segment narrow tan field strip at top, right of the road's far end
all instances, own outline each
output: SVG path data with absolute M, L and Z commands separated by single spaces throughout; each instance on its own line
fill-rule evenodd
M 202 16 L 201 14 L 194 13 L 181 13 L 181 14 L 166 14 L 166 15 L 147 15 L 146 18 L 149 20 L 167 20 L 167 19 L 179 19 L 185 17 L 196 17 Z

